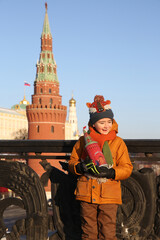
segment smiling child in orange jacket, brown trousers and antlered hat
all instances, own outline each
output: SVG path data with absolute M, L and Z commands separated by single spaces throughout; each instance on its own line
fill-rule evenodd
M 80 137 L 69 161 L 69 170 L 79 175 L 76 199 L 81 201 L 82 240 L 116 240 L 116 214 L 122 204 L 120 180 L 132 173 L 124 141 L 117 136 L 110 101 L 96 95 L 89 107 L 89 134 L 98 142 L 110 168 L 95 166 L 87 157 L 84 137 Z M 85 159 L 82 161 L 82 159 Z

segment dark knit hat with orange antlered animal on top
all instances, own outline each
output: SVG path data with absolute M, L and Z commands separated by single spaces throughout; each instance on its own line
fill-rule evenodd
M 86 103 L 89 108 L 90 123 L 93 125 L 102 118 L 110 118 L 113 120 L 113 112 L 110 107 L 110 100 L 104 101 L 104 97 L 96 95 L 93 103 Z

